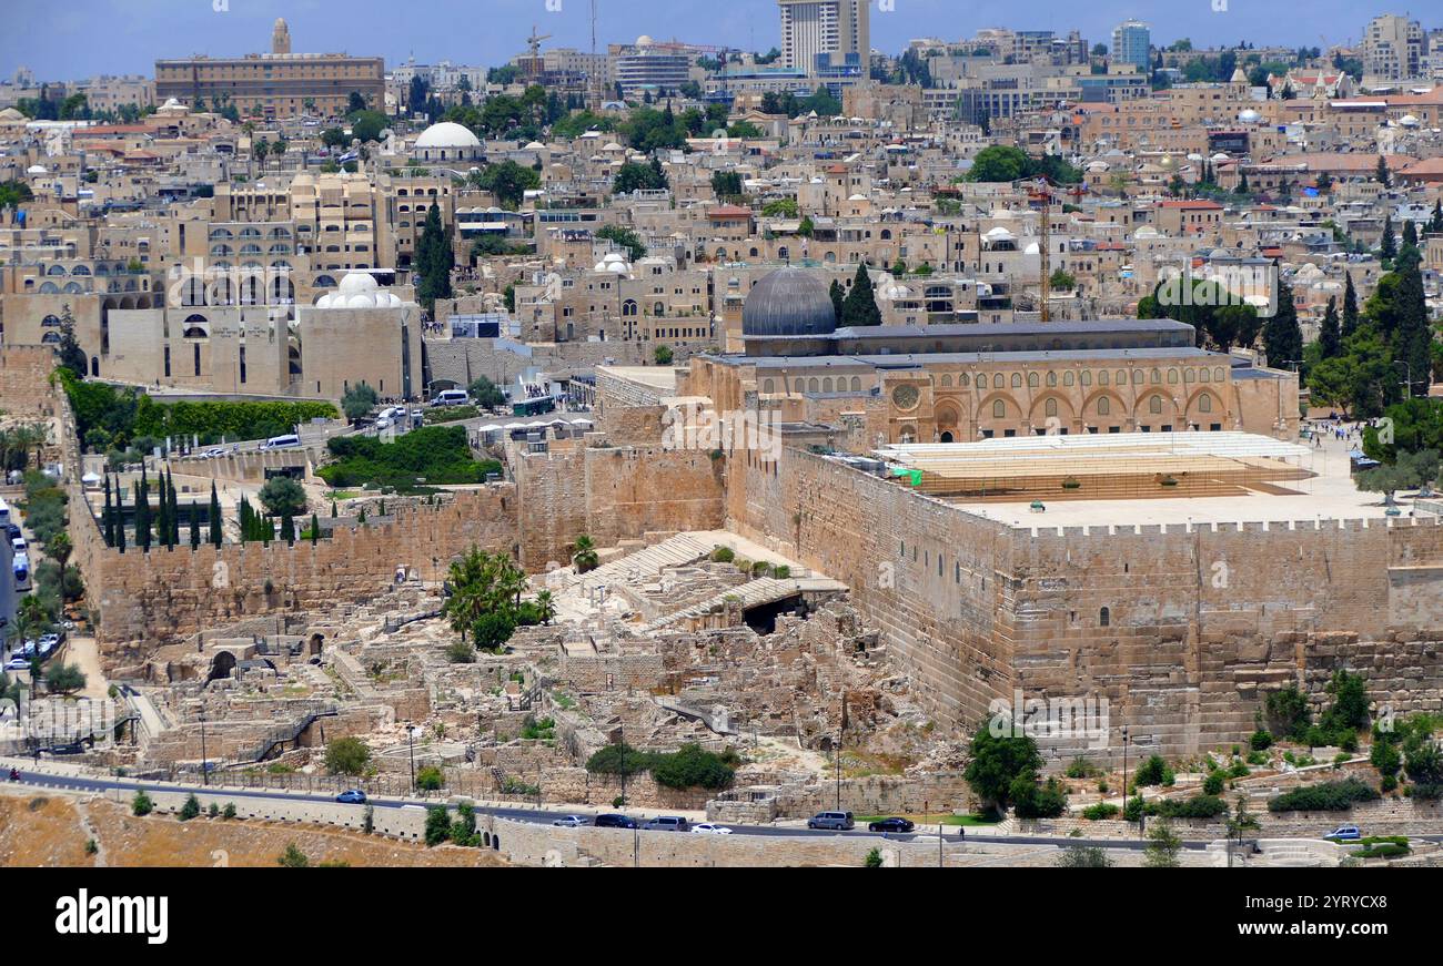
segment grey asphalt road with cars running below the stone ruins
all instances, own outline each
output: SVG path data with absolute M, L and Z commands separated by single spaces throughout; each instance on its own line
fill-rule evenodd
M 131 792 L 137 787 L 152 789 L 156 792 L 199 792 L 203 790 L 201 786 L 193 784 L 173 784 L 166 781 L 118 781 L 113 779 L 105 779 L 100 776 L 61 776 L 61 774 L 40 774 L 33 771 L 20 771 L 20 781 L 23 784 L 35 786 L 49 786 L 58 789 L 72 789 L 76 792 L 108 792 L 121 790 Z M 335 796 L 330 794 L 302 794 L 302 793 L 283 793 L 283 792 L 266 792 L 261 789 L 244 789 L 244 790 L 227 790 L 227 797 L 231 799 L 277 799 L 283 802 L 335 802 Z M 378 809 L 400 809 L 407 805 L 421 805 L 418 802 L 410 802 L 405 799 L 381 799 L 372 797 L 369 803 Z M 442 802 L 434 802 L 430 805 L 444 805 Z M 364 806 L 355 806 L 364 807 Z M 455 806 L 447 806 L 455 807 Z M 495 807 L 495 806 L 476 806 L 476 812 L 483 815 L 494 815 L 502 819 L 512 819 L 518 822 L 534 822 L 537 825 L 551 825 L 554 820 L 563 815 L 577 815 L 583 817 L 595 817 L 596 812 L 551 812 L 541 809 L 522 809 L 522 807 Z M 864 829 L 857 829 L 853 832 L 831 832 L 831 830 L 814 830 L 814 829 L 798 829 L 785 828 L 773 825 L 727 825 L 733 835 L 759 835 L 759 836 L 791 836 L 791 838 L 810 838 L 818 835 L 848 835 L 857 838 L 869 839 L 892 839 L 896 842 L 911 842 L 915 839 L 932 841 L 935 835 L 922 835 L 912 832 L 909 835 L 883 835 L 880 832 L 867 832 Z M 674 835 L 674 832 L 655 832 L 655 835 Z M 944 836 L 947 842 L 983 842 L 988 845 L 1056 845 L 1059 848 L 1066 848 L 1072 845 L 1082 845 L 1091 848 L 1104 849 L 1143 849 L 1147 843 L 1141 839 L 1078 839 L 1078 838 L 1043 838 L 1036 835 L 975 835 L 968 832 L 967 835 L 947 835 Z M 1183 848 L 1201 851 L 1208 846 L 1206 841 L 1185 841 Z

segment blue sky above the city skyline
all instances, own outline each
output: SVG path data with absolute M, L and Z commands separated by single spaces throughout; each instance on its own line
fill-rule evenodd
M 596 0 L 597 49 L 648 33 L 755 50 L 778 43 L 775 0 Z M 1413 0 L 1424 14 L 1436 0 Z M 1216 10 L 1215 7 L 1222 7 Z M 1153 42 L 1195 46 L 1328 46 L 1356 42 L 1377 13 L 1356 0 L 872 0 L 872 46 L 898 53 L 912 37 L 970 37 L 980 27 L 1076 27 L 1107 43 L 1113 26 L 1149 22 Z M 543 46 L 590 49 L 590 0 L 49 0 L 20 4 L 0 35 L 0 78 L 30 68 L 39 79 L 152 74 L 156 58 L 270 50 L 276 17 L 290 23 L 293 49 L 418 63 L 495 66 L 525 50 L 532 25 Z M 1443 13 L 1424 16 L 1443 26 Z

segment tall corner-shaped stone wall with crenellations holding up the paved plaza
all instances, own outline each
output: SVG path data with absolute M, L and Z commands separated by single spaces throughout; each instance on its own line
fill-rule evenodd
M 1270 688 L 1322 702 L 1343 666 L 1398 711 L 1443 706 L 1436 520 L 1013 529 L 799 450 L 729 463 L 730 525 L 847 582 L 945 724 L 1016 688 L 1105 698 L 1101 747 L 1056 760 L 1120 724 L 1196 754 L 1245 740 Z

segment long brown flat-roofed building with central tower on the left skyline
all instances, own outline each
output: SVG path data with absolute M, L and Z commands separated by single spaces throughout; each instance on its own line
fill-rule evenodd
M 156 99 L 182 104 L 234 104 L 242 115 L 299 117 L 303 112 L 339 117 L 352 94 L 367 105 L 385 107 L 385 62 L 345 53 L 291 53 L 290 29 L 277 20 L 271 53 L 240 58 L 195 56 L 156 61 Z

